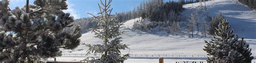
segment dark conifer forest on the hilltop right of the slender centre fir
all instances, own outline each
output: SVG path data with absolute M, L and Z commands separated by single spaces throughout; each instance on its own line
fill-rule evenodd
M 203 1 L 203 0 L 202 0 Z M 208 0 L 205 0 L 208 1 Z M 184 4 L 196 3 L 200 0 L 180 0 L 164 2 L 163 0 L 150 0 L 140 3 L 138 7 L 134 7 L 132 11 L 117 13 L 121 15 L 118 20 L 126 21 L 141 17 L 142 19 L 150 19 L 151 21 L 180 21 L 180 12 L 184 10 Z

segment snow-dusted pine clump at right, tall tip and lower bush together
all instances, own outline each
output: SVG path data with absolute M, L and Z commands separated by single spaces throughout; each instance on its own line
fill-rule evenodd
M 251 62 L 253 57 L 249 45 L 244 38 L 238 40 L 238 35 L 234 37 L 227 20 L 221 21 L 216 29 L 215 34 L 218 37 L 214 37 L 210 42 L 205 41 L 203 50 L 208 53 L 207 61 Z

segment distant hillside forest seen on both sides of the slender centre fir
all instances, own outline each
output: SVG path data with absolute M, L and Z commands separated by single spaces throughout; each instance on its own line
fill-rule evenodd
M 202 0 L 203 1 L 203 0 Z M 208 0 L 206 0 L 208 1 Z M 124 22 L 127 20 L 135 19 L 141 17 L 139 20 L 149 19 L 150 21 L 154 21 L 151 25 L 145 25 L 144 28 L 154 28 L 157 26 L 157 22 L 166 23 L 170 21 L 170 26 L 173 21 L 183 21 L 181 20 L 181 14 L 184 10 L 184 4 L 196 3 L 200 2 L 199 0 L 180 0 L 164 2 L 163 0 L 150 0 L 144 1 L 140 3 L 139 6 L 134 7 L 133 10 L 128 12 L 120 12 L 113 15 L 120 15 L 117 20 L 119 22 Z M 75 25 L 81 26 L 81 33 L 86 33 L 90 28 L 96 28 L 97 22 L 93 21 L 92 18 L 82 18 L 76 19 L 74 22 Z M 167 26 L 167 25 L 166 25 Z

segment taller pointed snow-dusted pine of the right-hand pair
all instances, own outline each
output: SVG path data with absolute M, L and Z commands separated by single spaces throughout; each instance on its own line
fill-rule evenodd
M 208 53 L 207 61 L 225 60 L 224 56 L 227 55 L 227 51 L 224 51 L 226 48 L 224 45 L 234 36 L 226 20 L 221 21 L 215 29 L 217 30 L 215 35 L 218 37 L 214 36 L 212 41 L 205 41 L 206 46 L 203 50 Z

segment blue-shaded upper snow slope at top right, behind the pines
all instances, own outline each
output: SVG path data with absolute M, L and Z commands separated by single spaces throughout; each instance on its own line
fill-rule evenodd
M 203 3 L 204 4 L 204 3 Z M 199 6 L 199 3 L 184 5 L 185 12 L 189 13 L 193 7 Z M 215 17 L 221 13 L 230 21 L 234 34 L 240 37 L 256 39 L 256 11 L 252 11 L 249 7 L 242 5 L 235 0 L 215 0 L 206 2 L 209 15 Z

